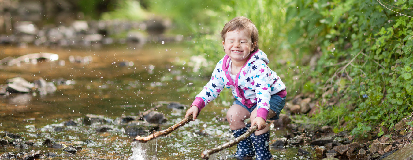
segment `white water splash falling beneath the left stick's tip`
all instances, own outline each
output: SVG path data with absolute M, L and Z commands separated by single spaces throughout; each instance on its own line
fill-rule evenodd
M 128 160 L 157 160 L 157 144 L 157 139 L 148 141 L 146 143 L 141 143 L 138 141 L 132 142 L 131 145 L 133 146 L 133 153 L 131 157 L 128 158 Z

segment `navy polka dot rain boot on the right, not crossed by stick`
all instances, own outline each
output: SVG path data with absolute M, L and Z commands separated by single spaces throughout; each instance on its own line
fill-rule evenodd
M 255 160 L 271 160 L 273 155 L 270 152 L 270 131 L 257 136 L 251 134 L 250 137 L 255 148 Z

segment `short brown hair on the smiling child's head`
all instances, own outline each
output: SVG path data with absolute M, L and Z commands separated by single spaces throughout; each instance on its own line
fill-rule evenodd
M 221 31 L 221 38 L 223 41 L 225 41 L 225 34 L 230 31 L 234 30 L 243 30 L 246 29 L 247 32 L 251 35 L 251 41 L 252 44 L 256 42 L 254 51 L 251 53 L 255 52 L 258 50 L 258 30 L 255 27 L 254 23 L 252 23 L 251 20 L 249 20 L 246 17 L 239 16 L 231 19 L 228 23 L 225 24 L 224 28 Z

